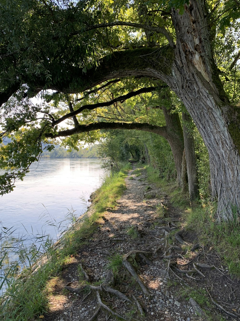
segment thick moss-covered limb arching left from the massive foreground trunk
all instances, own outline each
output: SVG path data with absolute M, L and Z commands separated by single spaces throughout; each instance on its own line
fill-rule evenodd
M 63 74 L 63 79 L 60 77 L 58 82 L 46 84 L 36 80 L 34 85 L 37 92 L 44 88 L 73 94 L 116 78 L 148 77 L 168 82 L 173 77 L 174 55 L 175 51 L 169 45 L 161 48 L 144 47 L 115 51 L 114 55 L 103 57 L 97 67 L 93 66 L 86 73 L 83 72 L 83 68 L 63 64 L 63 70 L 68 68 L 68 79 Z

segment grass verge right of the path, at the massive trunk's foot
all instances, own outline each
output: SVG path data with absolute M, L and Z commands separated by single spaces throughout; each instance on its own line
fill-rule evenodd
M 198 239 L 206 247 L 212 247 L 221 257 L 228 272 L 240 277 L 240 218 L 233 209 L 234 219 L 229 222 L 216 221 L 216 203 L 201 200 L 190 202 L 188 195 L 182 194 L 173 183 L 159 178 L 159 171 L 151 166 L 145 167 L 149 183 L 155 183 L 168 194 L 174 207 L 184 210 L 183 226 L 185 230 L 198 232 Z M 166 214 L 167 215 L 167 214 Z

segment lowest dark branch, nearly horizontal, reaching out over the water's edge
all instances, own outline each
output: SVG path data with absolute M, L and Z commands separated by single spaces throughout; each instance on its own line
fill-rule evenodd
M 96 122 L 87 125 L 78 125 L 71 129 L 65 129 L 59 131 L 58 134 L 47 134 L 46 138 L 57 138 L 57 137 L 65 137 L 73 134 L 87 133 L 92 130 L 101 130 L 101 129 L 136 129 L 142 130 L 145 132 L 151 132 L 155 134 L 159 134 L 166 139 L 168 138 L 167 127 L 166 126 L 155 126 L 150 125 L 148 123 L 134 123 L 134 122 Z

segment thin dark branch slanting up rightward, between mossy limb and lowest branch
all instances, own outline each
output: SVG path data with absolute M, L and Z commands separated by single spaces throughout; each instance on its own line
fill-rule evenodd
M 118 101 L 123 101 L 123 100 L 126 100 L 126 99 L 129 99 L 129 98 L 132 98 L 134 96 L 137 96 L 137 95 L 140 95 L 142 93 L 146 93 L 146 92 L 151 92 L 151 91 L 154 91 L 156 90 L 157 88 L 166 88 L 167 85 L 163 85 L 163 86 L 160 86 L 160 87 L 147 87 L 147 88 L 141 88 L 137 91 L 132 91 L 132 92 L 129 92 L 128 94 L 126 95 L 123 95 L 123 96 L 119 96 L 119 97 L 116 97 L 112 100 L 109 100 L 109 101 L 104 101 L 104 102 L 99 102 L 99 103 L 96 103 L 96 104 L 89 104 L 89 105 L 84 105 L 74 111 L 71 111 L 70 113 L 64 115 L 63 117 L 59 118 L 59 119 L 56 119 L 53 123 L 52 123 L 52 126 L 55 126 L 57 124 L 60 124 L 62 121 L 64 121 L 65 119 L 67 118 L 70 118 L 70 117 L 74 117 L 76 116 L 77 114 L 81 113 L 83 110 L 85 109 L 88 109 L 88 110 L 93 110 L 95 108 L 99 108 L 99 107 L 107 107 L 107 106 L 110 106 L 112 104 L 114 104 L 115 102 L 118 102 Z M 75 124 L 76 125 L 76 124 Z

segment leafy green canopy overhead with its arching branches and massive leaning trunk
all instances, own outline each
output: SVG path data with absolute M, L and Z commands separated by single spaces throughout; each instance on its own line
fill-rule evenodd
M 178 112 L 187 109 L 209 152 L 219 218 L 240 207 L 237 0 L 0 6 L 1 137 L 11 138 L 1 147 L 2 194 L 56 137 L 75 147 L 114 128 L 165 137 L 179 178 Z

